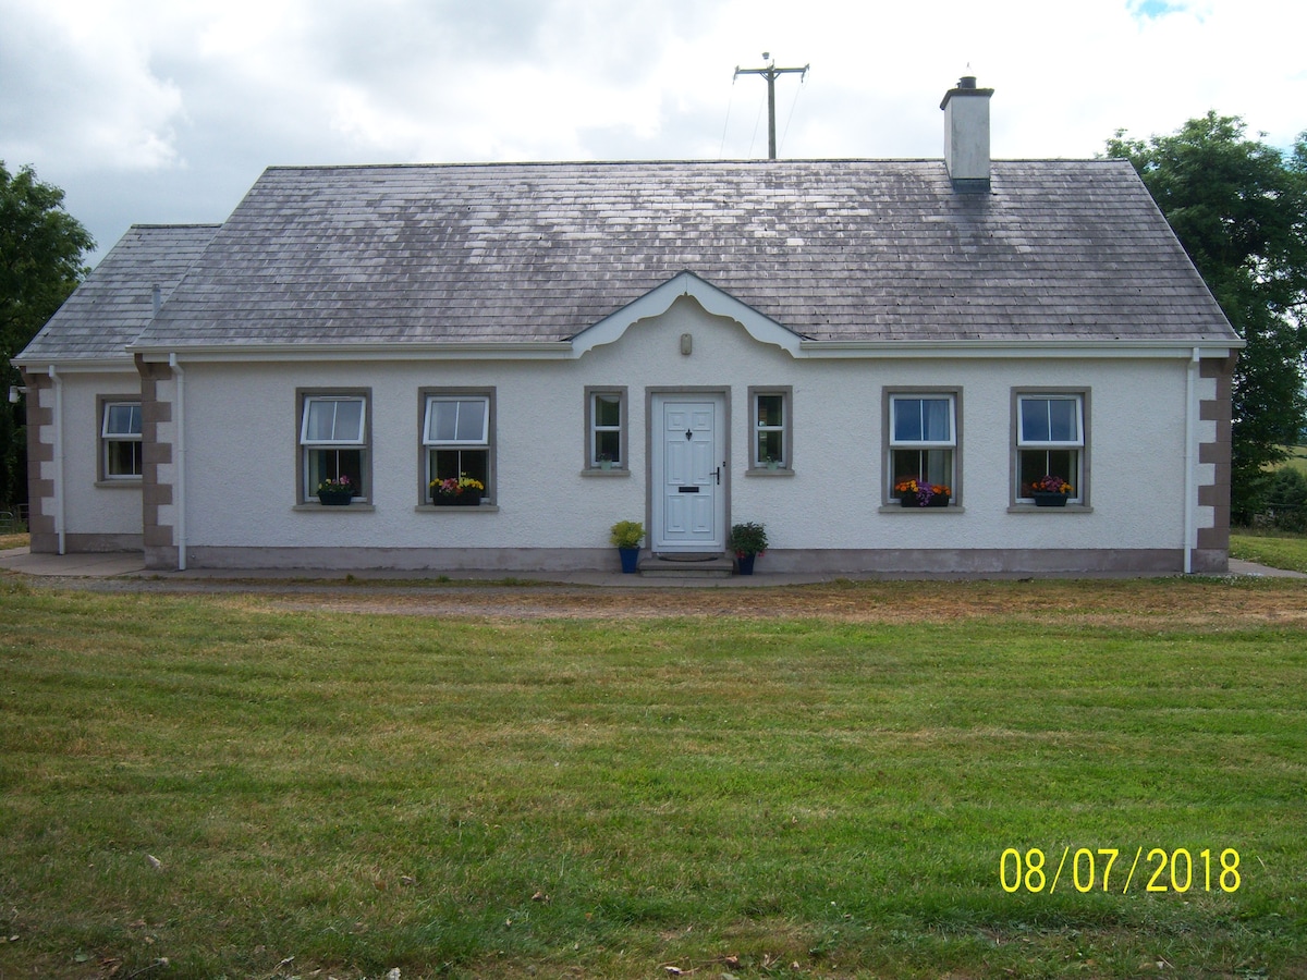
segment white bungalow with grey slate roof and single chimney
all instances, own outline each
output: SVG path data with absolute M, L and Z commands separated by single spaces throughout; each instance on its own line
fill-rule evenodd
M 761 521 L 778 571 L 1223 570 L 1242 341 L 1128 163 L 991 162 L 991 94 L 942 161 L 273 167 L 133 227 L 17 358 L 33 549 L 616 568 L 630 519 L 646 562 Z

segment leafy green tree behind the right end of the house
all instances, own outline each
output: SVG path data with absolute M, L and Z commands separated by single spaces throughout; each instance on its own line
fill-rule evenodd
M 1307 132 L 1291 154 L 1208 112 L 1171 136 L 1108 140 L 1131 161 L 1230 324 L 1247 342 L 1234 375 L 1231 510 L 1247 521 L 1307 425 Z

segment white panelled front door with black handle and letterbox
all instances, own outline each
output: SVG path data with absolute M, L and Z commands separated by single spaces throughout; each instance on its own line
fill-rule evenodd
M 725 550 L 723 395 L 655 395 L 654 551 Z

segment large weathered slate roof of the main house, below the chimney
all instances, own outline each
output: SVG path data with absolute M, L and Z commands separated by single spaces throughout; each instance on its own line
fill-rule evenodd
M 137 344 L 557 341 L 682 270 L 814 340 L 1236 341 L 1124 161 L 753 161 L 273 167 Z

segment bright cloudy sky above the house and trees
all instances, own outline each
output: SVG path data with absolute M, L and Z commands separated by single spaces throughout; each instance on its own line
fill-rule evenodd
M 1307 129 L 1300 0 L 0 0 L 0 159 L 98 260 L 218 222 L 269 165 L 942 155 L 996 89 L 996 158 L 1093 157 L 1216 110 Z

